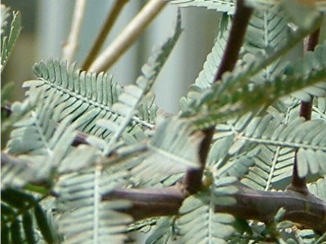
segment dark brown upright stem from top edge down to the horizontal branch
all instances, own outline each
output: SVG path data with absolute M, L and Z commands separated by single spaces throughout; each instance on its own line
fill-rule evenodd
M 244 34 L 246 34 L 247 25 L 249 23 L 252 11 L 253 10 L 251 8 L 244 6 L 243 0 L 237 0 L 236 11 L 233 17 L 233 23 L 228 37 L 227 46 L 223 54 L 221 65 L 214 77 L 214 82 L 220 80 L 225 72 L 233 70 L 238 59 L 239 51 L 244 39 Z M 184 185 L 189 193 L 195 193 L 201 188 L 203 170 L 205 168 L 214 129 L 214 127 L 211 127 L 203 131 L 204 139 L 199 150 L 201 167 L 199 169 L 190 169 L 186 172 Z

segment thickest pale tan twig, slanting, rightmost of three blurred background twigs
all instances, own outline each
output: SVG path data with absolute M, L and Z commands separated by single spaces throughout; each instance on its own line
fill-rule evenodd
M 138 39 L 146 26 L 167 4 L 164 0 L 150 0 L 91 65 L 89 71 L 101 72 L 110 68 L 119 57 Z

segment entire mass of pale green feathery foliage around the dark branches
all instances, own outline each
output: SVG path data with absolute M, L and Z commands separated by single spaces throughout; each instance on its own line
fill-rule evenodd
M 253 189 L 284 189 L 296 150 L 299 174 L 311 176 L 309 188 L 326 200 L 326 43 L 292 64 L 285 55 L 320 21 L 318 11 L 307 10 L 308 17 L 297 23 L 286 5 L 248 1 L 256 9 L 235 71 L 213 84 L 235 1 L 171 2 L 221 15 L 212 51 L 181 99 L 179 115 L 161 116 L 150 89 L 180 36 L 180 14 L 174 34 L 149 58 L 134 84 L 121 87 L 108 73 L 81 71 L 65 60 L 34 66 L 37 79 L 23 84 L 28 97 L 12 106 L 7 120 L 13 130 L 5 151 L 16 157 L 8 158 L 1 171 L 4 240 L 123 243 L 128 231 L 154 222 L 146 243 L 174 238 L 181 243 L 256 243 L 266 238 L 264 226 L 240 223 L 214 207 L 236 203 L 229 195 L 237 192 L 231 186 L 237 180 Z M 324 4 L 317 9 L 324 10 Z M 4 22 L 2 28 L 8 26 Z M 19 30 L 20 15 L 14 13 L 9 34 L 2 31 L 3 66 Z M 312 120 L 305 121 L 298 107 L 312 97 Z M 186 169 L 199 167 L 202 136 L 194 130 L 216 122 L 205 169 L 212 184 L 185 199 L 179 216 L 133 223 L 118 211 L 130 202 L 102 200 L 117 188 L 174 185 Z M 86 135 L 86 144 L 72 146 Z M 284 226 L 278 226 L 283 243 L 319 238 L 306 229 L 289 234 Z

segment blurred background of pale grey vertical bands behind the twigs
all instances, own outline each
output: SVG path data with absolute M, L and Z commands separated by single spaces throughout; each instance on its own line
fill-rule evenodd
M 130 0 L 125 5 L 104 47 L 114 40 L 146 2 Z M 84 62 L 113 3 L 113 0 L 88 0 L 75 56 L 77 66 Z M 21 83 L 35 78 L 33 64 L 42 59 L 62 56 L 75 1 L 3 0 L 2 4 L 12 10 L 19 10 L 22 14 L 22 32 L 1 77 L 2 86 L 5 82 L 15 83 L 14 100 L 22 100 Z M 212 10 L 184 8 L 181 9 L 181 14 L 184 31 L 154 86 L 158 106 L 173 113 L 178 111 L 180 97 L 186 94 L 188 86 L 195 81 L 201 70 L 218 26 L 218 14 Z M 171 4 L 158 14 L 138 42 L 108 70 L 116 82 L 124 85 L 137 79 L 153 47 L 171 35 L 176 15 L 177 7 Z

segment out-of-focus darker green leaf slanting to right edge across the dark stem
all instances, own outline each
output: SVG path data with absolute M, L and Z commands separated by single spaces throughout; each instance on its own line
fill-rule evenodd
M 284 74 L 275 77 L 264 85 L 252 86 L 246 84 L 240 85 L 238 89 L 231 85 L 244 82 L 246 75 L 242 75 L 247 72 L 250 73 L 250 68 L 249 70 L 244 68 L 244 71 L 240 71 L 240 73 L 235 71 L 232 75 L 226 74 L 221 84 L 214 85 L 212 90 L 203 94 L 201 100 L 202 104 L 205 104 L 203 107 L 205 117 L 199 119 L 199 124 L 205 125 L 209 119 L 217 121 L 226 118 L 227 114 L 241 115 L 247 111 L 257 110 L 261 106 L 270 105 L 276 102 L 277 99 L 297 90 L 308 94 L 309 98 L 311 95 L 323 96 L 326 89 L 324 82 L 326 77 L 325 45 L 320 45 L 314 52 L 295 62 L 293 66 L 289 65 Z M 314 62 L 314 66 L 305 66 L 306 62 Z M 298 74 L 293 73 L 292 69 L 298 69 L 298 67 L 303 70 Z M 234 80 L 231 78 L 232 76 L 235 76 Z

